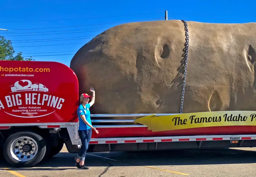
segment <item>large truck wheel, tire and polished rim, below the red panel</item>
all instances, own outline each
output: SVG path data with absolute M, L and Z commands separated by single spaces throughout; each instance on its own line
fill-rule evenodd
M 45 154 L 45 140 L 33 132 L 14 133 L 4 143 L 4 157 L 13 166 L 33 167 Z

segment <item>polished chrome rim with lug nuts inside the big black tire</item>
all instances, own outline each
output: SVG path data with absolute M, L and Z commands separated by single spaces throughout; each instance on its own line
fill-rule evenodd
M 17 161 L 25 162 L 34 158 L 37 154 L 38 145 L 31 137 L 19 137 L 15 139 L 10 147 L 12 158 Z

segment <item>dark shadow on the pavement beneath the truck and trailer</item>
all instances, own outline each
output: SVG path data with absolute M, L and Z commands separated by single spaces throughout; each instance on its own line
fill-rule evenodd
M 157 150 L 140 152 L 89 153 L 102 156 L 100 158 L 86 155 L 86 165 L 89 167 L 109 166 L 160 166 L 160 165 L 211 165 L 211 164 L 250 164 L 256 162 L 256 151 L 238 149 L 186 149 Z M 33 168 L 11 168 L 10 170 L 70 170 L 75 167 L 76 154 L 60 152 L 53 158 L 43 161 Z M 114 160 L 110 160 L 114 159 Z M 5 161 L 0 162 L 0 168 L 10 168 Z M 78 169 L 77 169 L 78 170 Z

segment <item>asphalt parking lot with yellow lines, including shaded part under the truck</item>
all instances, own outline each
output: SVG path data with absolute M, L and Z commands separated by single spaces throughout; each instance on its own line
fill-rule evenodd
M 0 177 L 251 177 L 256 167 L 256 148 L 90 153 L 90 170 L 77 169 L 75 156 L 63 148 L 52 159 L 22 169 L 1 160 Z

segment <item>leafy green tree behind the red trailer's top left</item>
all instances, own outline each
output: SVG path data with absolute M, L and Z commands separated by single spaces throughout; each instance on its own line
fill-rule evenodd
M 0 36 L 0 60 L 12 60 L 12 61 L 34 61 L 32 57 L 24 58 L 22 57 L 22 52 L 18 52 L 14 56 L 14 48 L 12 47 L 11 40 L 5 39 L 4 36 Z

